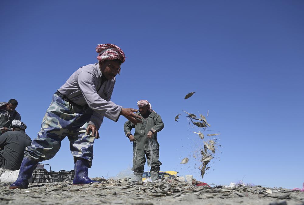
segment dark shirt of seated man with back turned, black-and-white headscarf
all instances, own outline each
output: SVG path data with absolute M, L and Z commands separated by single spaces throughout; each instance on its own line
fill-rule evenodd
M 25 148 L 32 143 L 25 131 L 8 131 L 0 136 L 0 168 L 18 170 Z

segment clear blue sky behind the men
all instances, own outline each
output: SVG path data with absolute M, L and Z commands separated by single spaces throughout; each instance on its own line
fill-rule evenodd
M 197 129 L 185 114 L 178 123 L 174 117 L 209 110 L 221 148 L 202 181 L 300 187 L 303 9 L 303 1 L 3 0 L 0 101 L 18 100 L 26 132 L 36 138 L 52 94 L 79 67 L 97 62 L 97 44 L 114 43 L 127 59 L 112 101 L 136 108 L 147 99 L 161 115 L 161 171 L 201 179 L 189 157 L 202 144 L 191 133 Z M 115 176 L 132 166 L 125 121 L 104 120 L 89 176 Z M 74 169 L 68 143 L 45 161 L 54 171 Z

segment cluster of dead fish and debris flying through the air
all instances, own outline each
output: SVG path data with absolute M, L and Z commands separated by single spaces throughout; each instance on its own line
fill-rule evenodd
M 185 99 L 188 99 L 190 98 L 195 92 L 190 92 L 188 93 L 186 96 L 185 96 Z M 203 116 L 202 114 L 200 114 L 200 118 L 197 117 L 195 114 L 192 114 L 192 113 L 188 113 L 186 111 L 184 111 L 186 114 L 187 114 L 187 118 L 189 120 L 189 126 L 191 127 L 191 123 L 196 126 L 196 127 L 199 127 L 202 129 L 202 132 L 206 131 L 206 128 L 210 127 L 211 125 L 207 122 L 206 120 L 206 117 Z M 209 112 L 208 112 L 209 113 Z M 207 113 L 207 116 L 208 116 L 208 113 Z M 179 116 L 181 114 L 178 114 L 176 117 L 175 117 L 175 121 L 178 122 L 178 119 L 179 119 Z M 191 123 L 190 123 L 191 122 Z M 199 166 L 199 169 L 201 171 L 201 176 L 202 178 L 204 177 L 204 174 L 206 172 L 206 170 L 210 169 L 208 165 L 208 163 L 210 162 L 210 160 L 212 160 L 214 158 L 214 154 L 215 154 L 215 149 L 216 149 L 216 141 L 214 139 L 209 139 L 207 141 L 204 141 L 204 134 L 202 133 L 201 131 L 199 132 L 193 132 L 195 134 L 198 134 L 199 138 L 203 140 L 203 149 L 201 149 L 200 151 L 200 162 L 202 163 L 200 166 Z M 216 136 L 216 135 L 219 135 L 219 133 L 215 133 L 215 134 L 207 134 L 208 137 L 211 137 L 211 136 Z M 194 158 L 196 158 L 196 156 L 194 155 L 193 156 Z M 181 164 L 186 164 L 188 163 L 189 161 L 189 158 L 184 158 L 182 161 L 181 161 Z

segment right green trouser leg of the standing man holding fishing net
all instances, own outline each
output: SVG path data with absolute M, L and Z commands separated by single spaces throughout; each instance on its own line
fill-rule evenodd
M 151 181 L 155 181 L 158 179 L 158 172 L 160 170 L 161 162 L 158 160 L 159 158 L 159 144 L 157 141 L 153 139 L 150 140 L 149 143 L 154 143 L 152 146 L 149 146 L 151 149 L 146 151 L 148 166 L 151 167 Z

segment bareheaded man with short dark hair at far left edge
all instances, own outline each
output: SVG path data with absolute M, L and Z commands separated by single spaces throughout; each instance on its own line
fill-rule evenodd
M 17 100 L 10 99 L 9 102 L 0 102 L 0 135 L 12 130 L 12 121 L 21 120 L 20 114 L 16 111 Z

